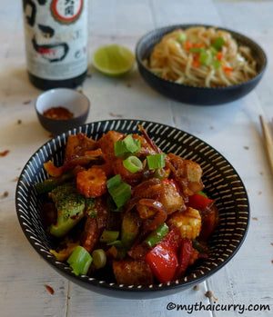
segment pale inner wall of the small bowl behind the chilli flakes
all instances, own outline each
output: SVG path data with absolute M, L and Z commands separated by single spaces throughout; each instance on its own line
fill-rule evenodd
M 86 114 L 89 109 L 89 100 L 85 94 L 73 89 L 56 88 L 40 94 L 36 100 L 36 111 L 43 115 L 45 110 L 53 107 L 66 107 L 71 113 L 78 117 Z

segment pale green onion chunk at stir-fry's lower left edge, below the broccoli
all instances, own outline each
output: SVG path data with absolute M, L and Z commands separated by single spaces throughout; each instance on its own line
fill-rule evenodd
M 86 274 L 89 266 L 92 263 L 92 256 L 86 251 L 85 248 L 78 245 L 75 250 L 69 256 L 67 263 L 70 264 L 72 272 L 76 275 Z

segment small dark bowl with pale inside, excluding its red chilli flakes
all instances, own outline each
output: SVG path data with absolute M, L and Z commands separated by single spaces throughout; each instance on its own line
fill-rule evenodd
M 75 116 L 71 119 L 56 120 L 44 115 L 45 110 L 65 107 Z M 56 88 L 40 94 L 35 102 L 35 110 L 40 124 L 52 134 L 61 134 L 69 129 L 85 124 L 90 108 L 90 101 L 85 94 L 73 89 Z

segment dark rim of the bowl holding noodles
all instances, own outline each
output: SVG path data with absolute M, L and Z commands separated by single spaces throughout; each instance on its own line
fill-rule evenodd
M 185 29 L 187 27 L 192 27 L 192 26 L 204 26 L 204 27 L 216 27 L 217 30 L 223 30 L 223 31 L 227 31 L 229 32 L 232 36 L 235 35 L 236 37 L 240 37 L 241 39 L 243 39 L 243 41 L 248 41 L 251 43 L 251 45 L 255 46 L 256 48 L 258 48 L 258 50 L 260 51 L 261 54 L 263 54 L 264 57 L 264 63 L 262 64 L 262 68 L 261 70 L 258 72 L 258 74 L 256 74 L 254 77 L 252 77 L 251 79 L 249 79 L 246 82 L 242 82 L 239 84 L 232 84 L 230 86 L 220 86 L 220 87 L 206 87 L 206 86 L 195 86 L 195 85 L 189 85 L 189 84 L 178 84 L 176 82 L 173 82 L 171 80 L 162 78 L 160 76 L 158 76 L 157 74 L 151 72 L 148 68 L 147 65 L 143 63 L 143 60 L 140 58 L 139 56 L 139 46 L 142 45 L 143 41 L 146 40 L 146 38 L 150 35 L 157 35 L 158 33 L 163 32 L 162 36 L 167 35 L 168 32 L 172 32 L 178 28 L 182 28 Z M 235 38 L 237 40 L 237 38 Z M 158 43 L 158 42 L 157 42 Z M 149 74 L 152 74 L 155 78 L 157 78 L 157 80 L 161 80 L 163 83 L 168 83 L 168 84 L 174 84 L 177 87 L 185 87 L 188 89 L 197 89 L 197 90 L 207 90 L 207 91 L 212 91 L 212 90 L 217 90 L 217 91 L 227 91 L 227 90 L 232 90 L 234 88 L 240 87 L 244 84 L 251 84 L 252 82 L 255 82 L 259 77 L 261 77 L 268 65 L 268 57 L 267 54 L 265 53 L 264 49 L 258 45 L 257 42 L 253 41 L 251 38 L 249 38 L 247 35 L 243 35 L 241 33 L 238 33 L 237 31 L 231 30 L 229 28 L 226 27 L 221 27 L 221 26 L 216 26 L 216 25 L 203 25 L 203 24 L 186 24 L 186 25 L 166 25 L 166 26 L 162 26 L 162 27 L 158 27 L 150 32 L 148 32 L 146 35 L 143 35 L 136 43 L 136 50 L 135 50 L 135 54 L 136 54 L 136 62 L 138 65 L 141 65 L 142 67 L 144 67 L 147 72 Z

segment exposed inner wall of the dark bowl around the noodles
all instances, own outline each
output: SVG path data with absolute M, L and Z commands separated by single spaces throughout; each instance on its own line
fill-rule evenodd
M 149 58 L 150 54 L 153 51 L 154 46 L 157 45 L 157 43 L 161 41 L 161 39 L 164 35 L 167 35 L 168 33 L 172 32 L 174 30 L 177 30 L 178 28 L 183 30 L 183 29 L 186 29 L 186 28 L 192 27 L 192 26 L 211 27 L 213 25 L 171 25 L 171 26 L 166 26 L 166 27 L 162 27 L 162 28 L 156 29 L 154 31 L 151 31 L 147 35 L 144 35 L 138 41 L 138 43 L 136 45 L 137 62 L 142 64 L 144 67 L 146 67 L 146 65 L 143 63 L 143 61 Z M 267 64 L 267 57 L 266 57 L 266 54 L 264 53 L 264 51 L 262 50 L 262 48 L 258 44 L 256 44 L 254 41 L 252 41 L 247 36 L 240 35 L 237 32 L 226 29 L 224 27 L 218 27 L 217 29 L 221 29 L 221 30 L 229 32 L 233 36 L 233 38 L 236 39 L 236 41 L 238 42 L 238 45 L 247 45 L 250 48 L 253 57 L 257 61 L 258 74 L 260 74 L 265 69 L 266 64 Z M 157 77 L 161 78 L 159 76 L 157 76 Z M 163 81 L 167 81 L 166 79 L 163 79 L 163 78 L 161 78 L 161 79 Z M 250 79 L 250 81 L 252 79 Z M 173 82 L 173 84 L 177 84 L 177 83 Z M 242 83 L 242 84 L 244 84 L 244 83 Z M 181 85 L 181 84 L 177 84 L 177 85 Z M 187 86 L 187 84 L 183 84 L 183 85 Z M 195 87 L 195 88 L 207 88 L 207 87 Z M 223 88 L 227 88 L 227 87 L 223 87 Z M 207 88 L 207 89 L 210 89 L 210 88 Z

